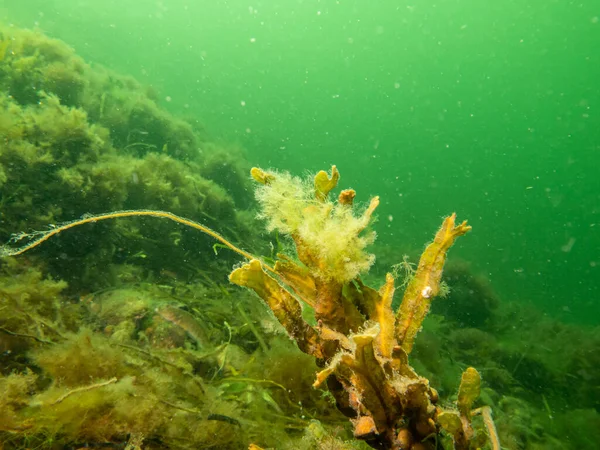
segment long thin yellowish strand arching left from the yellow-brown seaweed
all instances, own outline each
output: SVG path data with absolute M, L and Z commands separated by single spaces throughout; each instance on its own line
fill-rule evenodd
M 200 230 L 203 233 L 208 234 L 210 237 L 212 237 L 213 239 L 216 239 L 217 241 L 219 241 L 226 247 L 230 248 L 234 252 L 242 255 L 244 258 L 249 259 L 249 260 L 257 259 L 254 255 L 233 245 L 231 242 L 229 242 L 227 239 L 225 239 L 223 236 L 221 236 L 216 231 L 213 231 L 210 228 L 208 228 L 202 224 L 199 224 L 198 222 L 194 222 L 193 220 L 177 216 L 177 215 L 167 212 L 167 211 L 155 211 L 155 210 L 148 210 L 148 209 L 142 209 L 142 210 L 136 210 L 136 211 L 114 211 L 114 212 L 110 212 L 110 213 L 106 213 L 106 214 L 99 214 L 99 215 L 95 215 L 95 216 L 92 215 L 89 217 L 84 217 L 82 219 L 78 219 L 78 220 L 74 220 L 72 222 L 65 223 L 63 225 L 55 226 L 52 229 L 47 230 L 47 231 L 36 232 L 34 235 L 38 235 L 40 237 L 38 237 L 37 239 L 34 239 L 33 241 L 29 242 L 26 245 L 23 245 L 23 246 L 17 247 L 17 248 L 10 248 L 6 245 L 2 246 L 0 248 L 0 257 L 17 256 L 22 253 L 25 253 L 26 251 L 29 251 L 32 248 L 37 247 L 41 243 L 47 241 L 52 236 L 56 236 L 57 234 L 61 233 L 62 231 L 68 230 L 70 228 L 78 227 L 79 225 L 85 225 L 86 223 L 94 223 L 94 222 L 99 222 L 101 220 L 107 220 L 107 219 L 119 219 L 122 217 L 143 217 L 143 216 L 159 217 L 161 219 L 169 219 L 169 220 L 172 220 L 173 222 L 177 222 L 182 225 L 185 225 L 185 226 L 188 226 L 191 228 L 195 228 L 196 230 Z M 26 237 L 28 237 L 27 234 L 22 234 L 21 236 L 18 237 L 18 239 L 26 238 Z M 262 261 L 261 261 L 261 264 L 267 270 L 269 270 L 271 272 L 275 272 L 275 270 L 272 267 L 263 263 Z

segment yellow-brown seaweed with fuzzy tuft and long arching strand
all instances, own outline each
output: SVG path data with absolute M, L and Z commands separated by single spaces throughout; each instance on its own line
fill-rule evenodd
M 145 215 L 192 226 L 250 259 L 231 273 L 230 280 L 261 297 L 298 347 L 316 359 L 321 370 L 314 386 L 327 386 L 338 409 L 352 421 L 357 439 L 373 448 L 419 450 L 436 448 L 436 436 L 447 433 L 457 450 L 484 445 L 486 434 L 474 430 L 471 421 L 479 373 L 474 368 L 465 371 L 457 408 L 448 409 L 438 404 L 435 389 L 408 363 L 415 336 L 439 292 L 447 251 L 471 227 L 466 222 L 457 225 L 454 214 L 444 219 L 394 313 L 393 276 L 388 274 L 379 290 L 360 278 L 374 260 L 366 247 L 375 238 L 368 227 L 377 197 L 360 214 L 354 210 L 353 190 L 341 191 L 336 202 L 329 200 L 339 179 L 335 166 L 330 175 L 319 172 L 312 184 L 257 168 L 251 174 L 259 183 L 257 199 L 267 228 L 288 235 L 296 248 L 296 255 L 277 255 L 274 267 L 210 229 L 162 211 L 88 217 L 34 235 L 20 248 L 4 247 L 2 253 L 23 253 L 94 220 Z M 303 303 L 313 309 L 314 322 L 304 318 Z M 497 448 L 494 428 L 488 426 L 487 431 L 492 434 L 490 445 Z

